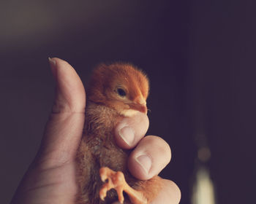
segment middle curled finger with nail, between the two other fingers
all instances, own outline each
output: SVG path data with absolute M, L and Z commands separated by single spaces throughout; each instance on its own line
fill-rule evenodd
M 156 176 L 170 162 L 170 146 L 157 136 L 146 136 L 128 159 L 129 171 L 138 179 Z

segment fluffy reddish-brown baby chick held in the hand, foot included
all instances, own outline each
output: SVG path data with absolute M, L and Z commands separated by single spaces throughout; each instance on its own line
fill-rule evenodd
M 122 118 L 138 111 L 147 114 L 148 89 L 146 75 L 130 64 L 101 64 L 94 69 L 77 156 L 78 204 L 123 203 L 123 191 L 131 203 L 150 203 L 161 189 L 158 176 L 140 181 L 129 173 L 129 150 L 118 147 L 113 138 L 113 128 Z

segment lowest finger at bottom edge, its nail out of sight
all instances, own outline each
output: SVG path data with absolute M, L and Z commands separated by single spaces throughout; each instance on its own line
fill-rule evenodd
M 151 204 L 178 204 L 181 200 L 181 191 L 177 185 L 170 180 L 162 179 L 164 187 Z

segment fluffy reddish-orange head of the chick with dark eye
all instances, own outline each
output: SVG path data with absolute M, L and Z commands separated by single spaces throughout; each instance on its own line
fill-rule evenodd
M 123 116 L 147 113 L 148 79 L 127 63 L 100 64 L 94 69 L 87 95 L 89 101 L 115 109 Z

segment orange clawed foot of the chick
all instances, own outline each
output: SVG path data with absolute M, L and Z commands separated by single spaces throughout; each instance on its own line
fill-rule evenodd
M 127 181 L 125 181 L 124 173 L 121 171 L 114 171 L 110 168 L 103 167 L 99 170 L 99 176 L 105 184 L 102 185 L 102 188 L 99 191 L 99 197 L 101 200 L 104 200 L 107 196 L 107 192 L 110 189 L 116 189 L 118 195 L 118 201 L 124 203 L 123 191 L 129 196 L 129 200 L 134 204 L 146 204 L 148 203 L 146 198 L 143 196 L 143 192 L 137 191 L 129 187 Z

